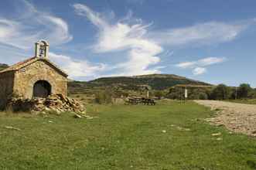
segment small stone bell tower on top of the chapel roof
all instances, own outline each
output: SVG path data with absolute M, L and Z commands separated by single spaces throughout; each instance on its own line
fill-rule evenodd
M 44 59 L 49 58 L 49 43 L 45 40 L 40 40 L 39 42 L 36 42 L 36 49 L 35 49 L 35 56 L 41 57 Z

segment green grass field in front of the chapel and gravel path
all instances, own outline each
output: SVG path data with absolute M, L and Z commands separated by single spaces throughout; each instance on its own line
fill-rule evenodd
M 0 169 L 256 169 L 255 138 L 197 104 L 87 107 L 94 119 L 0 114 Z

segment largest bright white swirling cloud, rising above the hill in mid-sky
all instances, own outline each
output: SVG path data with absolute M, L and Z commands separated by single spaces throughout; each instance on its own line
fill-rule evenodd
M 94 12 L 87 5 L 73 5 L 78 15 L 87 17 L 97 26 L 99 31 L 94 52 L 107 53 L 128 50 L 128 60 L 114 66 L 121 69 L 123 75 L 158 73 L 159 70 L 148 69 L 148 66 L 159 63 L 162 47 L 156 42 L 145 38 L 149 25 L 143 25 L 140 19 L 131 19 L 131 12 L 125 19 L 115 24 L 109 23 L 104 17 Z

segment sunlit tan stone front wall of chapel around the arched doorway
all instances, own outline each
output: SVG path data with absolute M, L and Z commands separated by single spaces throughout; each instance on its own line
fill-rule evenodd
M 47 81 L 52 87 L 52 93 L 67 96 L 67 77 L 43 60 L 15 72 L 14 93 L 31 99 L 34 84 L 39 80 Z

